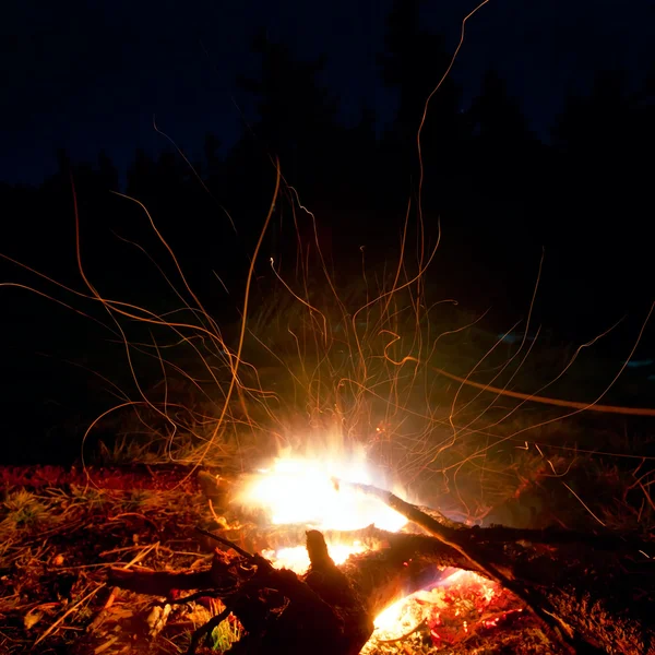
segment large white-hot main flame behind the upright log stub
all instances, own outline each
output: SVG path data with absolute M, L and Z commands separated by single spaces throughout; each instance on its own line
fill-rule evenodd
M 282 457 L 251 476 L 236 499 L 261 508 L 271 522 L 317 529 L 360 529 L 374 524 L 396 532 L 407 520 L 381 500 L 337 480 L 372 484 L 366 462 Z

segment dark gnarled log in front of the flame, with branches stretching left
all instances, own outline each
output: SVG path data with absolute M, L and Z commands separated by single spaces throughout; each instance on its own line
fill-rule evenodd
M 332 561 L 323 535 L 307 533 L 311 565 L 305 576 L 274 569 L 260 555 L 250 555 L 236 544 L 211 533 L 237 551 L 229 557 L 216 549 L 212 567 L 194 573 L 164 573 L 112 569 L 112 585 L 144 594 L 165 595 L 169 603 L 189 603 L 202 596 L 218 597 L 221 612 L 198 630 L 189 653 L 203 636 L 231 612 L 246 630 L 246 638 L 231 652 L 356 655 L 373 631 L 372 618 L 353 590 L 347 576 Z M 175 599 L 178 590 L 199 593 Z

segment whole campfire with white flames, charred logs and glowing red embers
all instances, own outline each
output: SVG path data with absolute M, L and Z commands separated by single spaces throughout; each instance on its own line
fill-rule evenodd
M 651 653 L 632 650 L 652 633 L 639 604 L 611 630 L 603 626 L 615 599 L 580 611 L 579 590 L 597 592 L 594 567 L 608 552 L 624 555 L 627 544 L 611 535 L 591 544 L 571 532 L 471 528 L 403 500 L 362 452 L 284 454 L 239 476 L 228 495 L 219 476 L 204 476 L 215 487 L 214 520 L 199 532 L 215 547 L 212 567 L 110 575 L 168 607 L 215 598 L 218 609 L 194 632 L 190 653 L 225 621 L 239 627 L 233 653 L 373 655 L 401 643 L 404 653 L 464 653 L 505 632 L 540 643 L 534 652 L 602 643 Z

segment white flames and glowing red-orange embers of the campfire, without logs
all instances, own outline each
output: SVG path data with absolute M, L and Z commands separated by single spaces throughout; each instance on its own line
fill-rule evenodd
M 371 550 L 366 539 L 348 533 L 374 527 L 391 533 L 409 531 L 406 516 L 365 491 L 366 486 L 389 484 L 380 471 L 366 461 L 362 450 L 349 457 L 279 456 L 270 466 L 241 479 L 233 502 L 245 512 L 261 511 L 270 526 L 303 526 L 325 532 L 327 552 L 337 565 L 350 556 Z M 403 495 L 391 483 L 395 492 Z M 407 534 L 416 533 L 409 531 Z M 277 569 L 303 575 L 311 562 L 305 544 L 265 548 L 262 555 Z M 362 653 L 374 653 L 383 644 L 410 635 L 429 635 L 434 647 L 469 638 L 476 629 L 496 627 L 509 614 L 521 612 L 521 602 L 503 593 L 495 582 L 476 573 L 445 568 L 436 571 L 424 590 L 392 602 L 374 618 L 374 632 Z M 502 599 L 500 599 L 502 596 Z M 496 609 L 492 608 L 495 600 Z M 475 624 L 475 621 L 479 626 Z

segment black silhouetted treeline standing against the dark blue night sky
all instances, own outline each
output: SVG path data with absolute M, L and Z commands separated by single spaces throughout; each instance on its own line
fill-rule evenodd
M 361 107 L 355 127 L 341 124 L 340 103 L 348 99 L 320 84 L 324 60 L 299 60 L 261 33 L 253 39 L 260 75 L 237 81 L 257 103 L 258 119 L 231 148 L 207 134 L 192 166 L 164 139 L 157 157 L 135 153 L 126 193 L 147 207 L 198 284 L 214 285 L 213 270 L 238 296 L 271 201 L 276 158 L 285 184 L 264 262 L 269 255 L 291 262 L 296 229 L 312 241 L 312 222 L 294 216 L 286 202 L 295 193 L 289 188 L 317 215 L 337 274 L 361 270 L 361 246 L 370 265 L 395 257 L 409 200 L 416 217 L 426 98 L 450 61 L 442 39 L 421 29 L 417 8 L 395 2 L 389 16 L 379 64 L 397 111 L 381 132 L 371 106 Z M 544 247 L 543 297 L 551 311 L 558 302 L 584 313 L 586 305 L 638 301 L 650 272 L 643 226 L 653 214 L 654 82 L 634 86 L 623 71 L 598 71 L 590 93 L 571 92 L 544 142 L 495 71 L 466 108 L 461 86 L 448 76 L 430 100 L 420 142 L 426 248 L 436 242 L 438 219 L 443 229 L 432 277 L 438 290 L 480 308 L 520 306 Z M 57 175 L 38 188 L 0 187 L 3 252 L 64 281 L 78 275 L 72 174 L 87 265 L 110 287 L 129 277 L 134 294 L 145 293 L 156 271 L 110 233 L 155 257 L 159 246 L 143 210 L 108 193 L 118 189 L 119 171 L 105 154 L 78 163 L 62 151 L 59 160 Z

